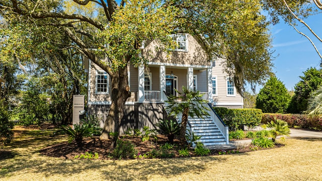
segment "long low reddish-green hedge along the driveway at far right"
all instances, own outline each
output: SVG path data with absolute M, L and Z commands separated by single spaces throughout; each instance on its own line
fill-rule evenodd
M 284 120 L 289 128 L 300 127 L 315 130 L 322 130 L 322 118 L 309 117 L 306 114 L 274 114 L 263 113 L 261 124 L 267 124 L 274 121 L 274 117 Z

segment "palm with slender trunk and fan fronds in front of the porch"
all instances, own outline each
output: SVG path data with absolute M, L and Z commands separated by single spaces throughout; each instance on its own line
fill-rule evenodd
M 182 86 L 182 91 L 183 92 L 179 92 L 176 90 L 180 96 L 170 95 L 166 102 L 169 103 L 167 109 L 170 110 L 170 114 L 178 115 L 179 113 L 182 113 L 180 141 L 184 143 L 188 116 L 202 117 L 204 115 L 208 115 L 209 109 L 202 105 L 203 103 L 207 103 L 207 101 L 202 100 L 202 94 L 200 91 L 189 90 L 184 86 Z

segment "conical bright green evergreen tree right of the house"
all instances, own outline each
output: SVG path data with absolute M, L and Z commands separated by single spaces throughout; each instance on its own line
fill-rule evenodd
M 263 112 L 283 113 L 290 100 L 285 85 L 275 76 L 271 77 L 256 98 L 256 108 Z

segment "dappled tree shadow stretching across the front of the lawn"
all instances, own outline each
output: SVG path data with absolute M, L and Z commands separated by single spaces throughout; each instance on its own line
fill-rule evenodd
M 142 160 L 63 160 L 46 156 L 20 156 L 2 163 L 4 171 L 0 171 L 0 178 L 28 171 L 28 174 L 41 173 L 44 177 L 68 177 L 80 173 L 91 175 L 97 172 L 102 174 L 102 180 L 148 180 L 150 175 L 171 178 L 188 172 L 198 174 L 207 165 L 225 160 L 220 156 Z

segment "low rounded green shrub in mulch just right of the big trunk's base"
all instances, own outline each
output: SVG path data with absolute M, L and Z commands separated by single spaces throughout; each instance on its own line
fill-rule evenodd
M 134 149 L 135 145 L 133 145 L 130 141 L 117 140 L 116 147 L 112 152 L 112 156 L 114 158 L 134 158 L 137 155 L 137 150 Z

